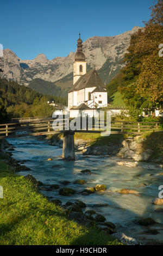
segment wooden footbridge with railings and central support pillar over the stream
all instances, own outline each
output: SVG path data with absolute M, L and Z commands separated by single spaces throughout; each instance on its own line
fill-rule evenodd
M 58 130 L 53 130 L 54 120 L 56 119 L 49 117 L 12 119 L 10 123 L 0 124 L 0 139 L 64 133 L 62 157 L 64 157 L 64 159 L 73 160 L 75 157 L 74 132 L 102 133 L 104 131 L 104 129 L 101 128 L 102 126 L 95 121 L 93 121 L 92 127 L 89 127 L 88 121 L 86 121 L 86 127 L 83 128 L 82 118 L 80 119 L 80 127 L 78 127 L 80 129 L 71 130 L 68 128 L 68 130 L 66 130 L 67 122 L 69 124 L 72 119 L 69 120 L 63 118 L 59 119 L 59 121 L 62 121 L 62 126 L 58 126 Z M 103 125 L 105 125 L 104 122 Z M 128 133 L 133 135 L 141 135 L 147 131 L 160 131 L 159 123 L 111 121 L 110 134 Z

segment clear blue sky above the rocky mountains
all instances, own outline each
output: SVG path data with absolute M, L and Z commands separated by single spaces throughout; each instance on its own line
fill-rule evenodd
M 21 59 L 48 59 L 76 50 L 78 33 L 113 36 L 143 26 L 153 0 L 5 0 L 0 3 L 0 44 Z

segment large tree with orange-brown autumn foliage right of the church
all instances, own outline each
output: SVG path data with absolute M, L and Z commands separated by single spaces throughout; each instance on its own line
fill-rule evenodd
M 133 116 L 143 109 L 163 107 L 163 57 L 159 45 L 163 44 L 163 0 L 151 7 L 151 19 L 145 28 L 131 36 L 128 53 L 121 70 L 120 91 Z

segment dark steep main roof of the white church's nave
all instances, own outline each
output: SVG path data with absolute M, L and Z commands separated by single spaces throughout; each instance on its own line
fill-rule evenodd
M 92 69 L 91 71 L 87 72 L 85 75 L 80 76 L 78 81 L 73 85 L 72 89 L 69 91 L 73 92 L 74 90 L 81 90 L 84 88 L 90 88 L 90 87 L 100 87 L 100 88 L 106 88 L 105 84 L 97 74 L 97 71 L 95 69 Z

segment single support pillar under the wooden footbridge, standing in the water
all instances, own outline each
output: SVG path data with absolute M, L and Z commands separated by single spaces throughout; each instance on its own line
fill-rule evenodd
M 62 157 L 65 160 L 74 160 L 75 159 L 74 132 L 73 131 L 64 132 Z

